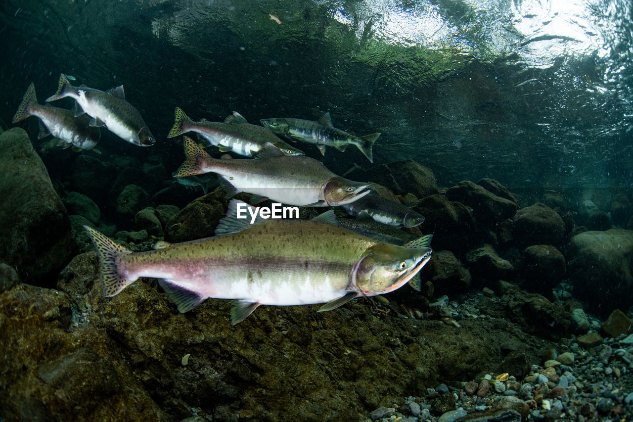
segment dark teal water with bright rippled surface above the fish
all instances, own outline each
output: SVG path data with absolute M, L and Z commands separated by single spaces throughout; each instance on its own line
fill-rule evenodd
M 251 122 L 330 111 L 341 129 L 382 132 L 375 162 L 415 158 L 444 185 L 633 182 L 627 1 L 9 0 L 0 13 L 5 123 L 30 81 L 49 95 L 65 72 L 125 84 L 170 156 L 175 106 Z

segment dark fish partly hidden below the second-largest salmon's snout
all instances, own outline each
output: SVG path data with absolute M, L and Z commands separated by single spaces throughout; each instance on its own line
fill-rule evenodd
M 389 226 L 415 227 L 424 222 L 424 216 L 405 207 L 399 202 L 390 201 L 379 195 L 367 195 L 342 207 L 349 215 L 360 219 L 373 219 Z

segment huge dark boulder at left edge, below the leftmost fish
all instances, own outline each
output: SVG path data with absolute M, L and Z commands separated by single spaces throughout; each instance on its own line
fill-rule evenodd
M 23 129 L 0 134 L 0 168 L 0 262 L 49 286 L 77 250 L 66 208 Z

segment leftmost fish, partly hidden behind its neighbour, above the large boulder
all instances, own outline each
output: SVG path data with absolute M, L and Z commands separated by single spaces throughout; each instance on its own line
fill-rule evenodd
M 28 86 L 22 103 L 13 116 L 13 123 L 20 122 L 29 116 L 40 119 L 38 139 L 52 134 L 61 139 L 66 148 L 72 145 L 80 150 L 92 150 L 99 143 L 101 131 L 98 127 L 91 127 L 87 117 L 75 117 L 70 110 L 39 104 L 34 84 Z M 47 146 L 60 147 L 64 145 L 60 141 L 55 141 L 54 145 L 47 144 Z

